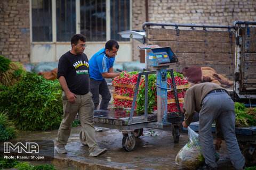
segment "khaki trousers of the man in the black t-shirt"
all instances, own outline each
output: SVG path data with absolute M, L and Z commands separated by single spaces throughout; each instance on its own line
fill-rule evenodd
M 92 94 L 91 92 L 88 92 L 86 95 L 76 96 L 76 103 L 71 104 L 68 101 L 65 92 L 62 92 L 64 114 L 55 144 L 57 146 L 67 145 L 72 123 L 75 119 L 76 114 L 78 113 L 79 120 L 85 132 L 86 142 L 89 146 L 89 152 L 91 153 L 99 148 L 99 145 L 95 138 L 95 128 L 93 121 L 94 104 L 92 101 Z

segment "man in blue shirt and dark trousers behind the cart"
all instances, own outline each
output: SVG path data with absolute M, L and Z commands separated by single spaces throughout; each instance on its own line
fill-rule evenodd
M 108 109 L 111 95 L 105 79 L 115 78 L 122 73 L 114 73 L 113 69 L 118 48 L 117 41 L 109 40 L 105 44 L 105 48 L 94 54 L 89 61 L 90 87 L 93 95 L 94 111 L 97 110 L 100 103 L 99 95 L 102 97 L 100 109 Z

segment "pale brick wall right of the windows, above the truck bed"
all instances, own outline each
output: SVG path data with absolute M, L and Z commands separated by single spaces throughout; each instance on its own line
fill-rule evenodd
M 133 0 L 133 15 L 138 19 L 133 19 L 133 30 L 142 30 L 146 22 L 145 6 L 140 3 L 145 1 Z M 148 0 L 148 15 L 149 22 L 232 25 L 234 21 L 256 21 L 256 1 Z M 133 53 L 134 60 L 138 60 L 138 51 L 134 49 Z

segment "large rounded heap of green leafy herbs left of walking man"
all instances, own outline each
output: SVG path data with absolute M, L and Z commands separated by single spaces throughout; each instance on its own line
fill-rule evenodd
M 62 90 L 58 80 L 26 72 L 13 87 L 0 86 L 0 109 L 20 130 L 58 129 L 62 120 Z

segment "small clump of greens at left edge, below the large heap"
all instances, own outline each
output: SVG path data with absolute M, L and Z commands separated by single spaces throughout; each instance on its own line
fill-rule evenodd
M 0 112 L 0 141 L 16 138 L 16 131 L 13 123 L 8 120 L 5 112 Z

